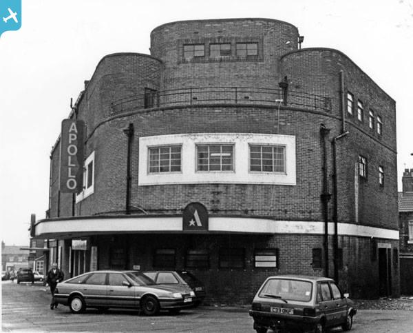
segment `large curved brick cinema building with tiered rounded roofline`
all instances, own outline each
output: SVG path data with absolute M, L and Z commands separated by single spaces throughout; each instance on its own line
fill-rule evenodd
M 83 189 L 51 153 L 49 262 L 190 270 L 207 303 L 248 303 L 266 276 L 328 275 L 399 294 L 395 101 L 346 54 L 290 23 L 166 23 L 151 54 L 108 54 L 69 119 Z M 62 157 L 63 158 L 63 157 Z

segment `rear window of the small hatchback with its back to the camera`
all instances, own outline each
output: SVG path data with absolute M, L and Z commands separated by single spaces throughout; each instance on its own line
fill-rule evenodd
M 313 283 L 290 279 L 270 279 L 266 281 L 260 297 L 282 299 L 285 301 L 308 302 L 313 294 Z

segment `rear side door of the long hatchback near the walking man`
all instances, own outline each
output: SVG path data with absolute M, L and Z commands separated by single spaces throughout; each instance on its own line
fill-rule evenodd
M 106 273 L 95 272 L 78 285 L 78 290 L 83 294 L 87 306 L 107 306 Z

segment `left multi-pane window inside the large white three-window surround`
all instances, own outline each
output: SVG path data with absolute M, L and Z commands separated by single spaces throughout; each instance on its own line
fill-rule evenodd
M 181 146 L 149 148 L 149 173 L 180 172 Z

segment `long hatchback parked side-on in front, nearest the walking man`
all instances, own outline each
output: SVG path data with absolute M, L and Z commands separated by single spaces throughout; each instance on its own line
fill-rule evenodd
M 138 308 L 151 316 L 160 310 L 178 313 L 193 305 L 194 292 L 186 285 L 156 285 L 135 271 L 102 270 L 75 276 L 57 285 L 54 298 L 74 313 L 87 307 Z

